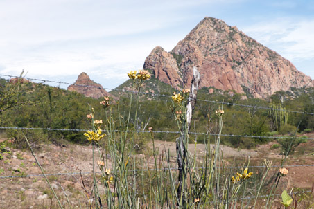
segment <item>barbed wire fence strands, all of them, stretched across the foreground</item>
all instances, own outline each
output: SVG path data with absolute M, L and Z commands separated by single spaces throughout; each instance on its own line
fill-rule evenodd
M 0 76 L 5 76 L 9 78 L 20 78 L 20 76 L 16 75 L 6 75 L 6 74 L 0 74 Z M 74 85 L 78 87 L 86 87 L 86 88 L 96 88 L 96 89 L 106 89 L 109 91 L 121 91 L 125 93 L 140 93 L 142 95 L 146 96 L 152 96 L 152 97 L 163 97 L 163 98 L 171 98 L 171 95 L 165 95 L 165 94 L 160 94 L 160 93 L 150 93 L 150 92 L 137 92 L 137 91 L 132 91 L 128 89 L 112 89 L 112 88 L 107 88 L 107 87 L 97 87 L 97 86 L 92 86 L 92 85 L 85 85 L 85 84 L 75 84 L 75 83 L 69 83 L 69 82 L 60 82 L 60 81 L 53 81 L 53 80 L 43 80 L 43 79 L 36 79 L 36 78 L 26 78 L 27 80 L 30 81 L 37 81 L 41 82 L 43 84 L 45 83 L 55 83 L 55 84 L 67 84 L 67 85 Z M 215 101 L 215 100 L 204 100 L 204 99 L 198 99 L 198 101 L 201 102 L 211 102 L 214 104 L 227 104 L 229 106 L 238 106 L 238 107 L 247 107 L 247 108 L 254 108 L 254 109 L 265 109 L 265 110 L 276 110 L 276 111 L 286 111 L 289 113 L 302 113 L 306 115 L 312 115 L 314 116 L 314 113 L 311 112 L 306 112 L 306 111 L 296 111 L 296 110 L 289 110 L 289 109 L 274 109 L 271 107 L 263 107 L 263 106 L 258 106 L 258 105 L 250 105 L 250 104 L 237 104 L 237 103 L 231 103 L 231 102 L 220 102 L 220 101 Z M 54 101 L 58 102 L 58 101 Z M 40 104 L 41 102 L 37 103 L 30 103 L 30 104 L 18 104 L 18 105 L 36 105 Z M 25 129 L 25 130 L 45 130 L 45 131 L 88 131 L 89 129 L 55 129 L 55 128 L 40 128 L 40 127 L 0 127 L 0 129 Z M 122 131 L 123 130 L 113 130 L 116 132 Z M 137 132 L 137 133 L 162 133 L 162 134 L 180 134 L 180 131 L 141 131 L 141 130 L 128 130 L 127 132 Z M 190 132 L 189 134 L 193 135 L 205 135 L 205 136 L 218 136 L 218 134 L 212 134 L 212 133 L 198 133 L 198 132 Z M 286 139 L 306 139 L 306 140 L 314 140 L 314 138 L 302 138 L 302 137 L 287 137 L 287 136 L 248 136 L 248 135 L 236 135 L 236 134 L 221 134 L 220 136 L 229 136 L 229 137 L 244 137 L 244 138 L 273 138 L 273 139 L 279 139 L 279 138 L 286 138 Z M 265 168 L 264 165 L 260 166 L 249 166 L 250 168 Z M 281 165 L 273 165 L 272 168 L 276 167 L 281 167 Z M 285 165 L 285 167 L 314 167 L 314 165 Z M 224 167 L 218 167 L 223 168 L 223 169 L 237 169 L 241 168 L 243 169 L 243 166 L 224 166 Z M 164 167 L 160 168 L 161 170 L 178 170 L 176 167 Z M 202 169 L 202 167 L 199 167 L 199 169 Z M 139 169 L 139 170 L 130 170 L 130 172 L 143 172 L 143 171 L 154 171 L 155 169 Z M 101 172 L 96 172 L 100 174 Z M 46 174 L 46 176 L 73 176 L 73 175 L 84 175 L 84 174 L 92 174 L 92 172 L 67 172 L 67 173 L 51 173 L 51 174 Z M 16 179 L 16 178 L 31 178 L 31 177 L 37 177 L 37 176 L 44 176 L 44 174 L 28 174 L 28 175 L 11 175 L 11 176 L 0 176 L 0 179 Z M 304 192 L 312 192 L 311 190 L 304 191 Z M 293 192 L 293 194 L 297 194 L 297 192 Z M 279 196 L 281 194 L 272 194 L 271 196 Z M 260 195 L 258 198 L 263 198 L 263 197 L 269 197 L 269 195 Z M 239 200 L 242 199 L 254 199 L 256 197 L 243 197 Z

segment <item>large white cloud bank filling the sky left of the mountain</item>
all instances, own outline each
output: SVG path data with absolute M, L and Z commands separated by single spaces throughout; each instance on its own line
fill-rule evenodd
M 24 69 L 35 78 L 73 78 L 85 71 L 125 80 L 125 72 L 140 69 L 158 42 L 169 46 L 162 34 L 152 32 L 185 19 L 173 12 L 192 4 L 0 1 L 0 73 L 19 75 Z

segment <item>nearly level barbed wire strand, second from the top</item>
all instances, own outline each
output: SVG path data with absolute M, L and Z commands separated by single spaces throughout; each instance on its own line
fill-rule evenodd
M 45 130 L 45 131 L 91 131 L 90 129 L 54 129 L 54 128 L 35 128 L 35 127 L 0 127 L 0 129 L 21 129 L 21 130 Z M 112 130 L 109 132 L 125 132 L 123 130 Z M 156 133 L 156 134 L 180 134 L 180 131 L 141 131 L 141 130 L 128 130 L 128 133 Z M 204 136 L 219 136 L 219 134 L 202 133 L 202 132 L 189 132 L 191 135 L 204 135 Z M 220 136 L 230 137 L 243 137 L 243 138 L 273 138 L 273 139 L 303 139 L 303 140 L 314 140 L 314 138 L 305 137 L 289 137 L 289 136 L 250 136 L 250 135 L 236 135 L 236 134 L 220 134 Z

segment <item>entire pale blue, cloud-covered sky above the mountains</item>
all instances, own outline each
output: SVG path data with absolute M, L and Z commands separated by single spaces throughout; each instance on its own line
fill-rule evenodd
M 114 88 L 155 46 L 171 51 L 206 16 L 314 79 L 314 0 L 0 0 L 0 73 L 75 82 L 84 71 Z

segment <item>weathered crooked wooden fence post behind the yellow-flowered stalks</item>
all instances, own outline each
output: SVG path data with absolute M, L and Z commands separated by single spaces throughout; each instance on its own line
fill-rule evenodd
M 200 72 L 196 67 L 193 67 L 193 79 L 191 82 L 191 89 L 189 93 L 189 98 L 186 104 L 186 122 L 182 123 L 181 135 L 177 138 L 176 149 L 177 149 L 177 167 L 179 170 L 178 181 L 179 185 L 177 187 L 178 206 L 184 207 L 184 198 L 186 195 L 186 174 L 189 171 L 188 162 L 188 149 L 187 149 L 187 139 L 189 134 L 189 129 L 191 127 L 191 120 L 193 115 L 193 110 L 196 103 L 196 96 L 198 94 L 198 86 L 200 84 Z

